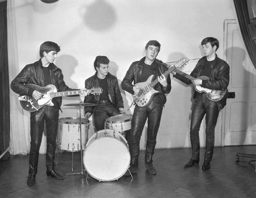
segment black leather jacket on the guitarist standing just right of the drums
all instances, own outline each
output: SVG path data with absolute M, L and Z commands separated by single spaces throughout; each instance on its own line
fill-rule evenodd
M 143 71 L 143 65 L 144 65 L 145 57 L 140 59 L 139 61 L 132 62 L 132 65 L 129 67 L 124 80 L 122 81 L 122 89 L 129 92 L 130 94 L 133 94 L 132 88 L 134 87 L 134 84 L 137 84 L 139 82 L 142 82 L 142 71 Z M 152 63 L 152 66 L 154 66 L 154 78 L 153 80 L 161 76 L 162 73 L 165 73 L 168 70 L 168 67 L 165 63 L 159 61 L 158 59 L 155 59 Z M 132 84 L 132 81 L 134 81 L 134 84 Z M 163 88 L 160 83 L 157 83 L 154 86 L 154 89 L 159 91 L 159 95 L 161 97 L 163 105 L 166 103 L 166 95 L 171 91 L 171 78 L 168 74 L 167 76 L 167 87 Z

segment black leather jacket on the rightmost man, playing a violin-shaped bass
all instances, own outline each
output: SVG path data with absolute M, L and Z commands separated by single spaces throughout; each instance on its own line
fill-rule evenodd
M 195 78 L 200 77 L 205 61 L 206 61 L 206 56 L 202 57 L 197 62 L 196 67 L 190 73 L 190 76 Z M 228 63 L 226 63 L 226 61 L 218 58 L 217 55 L 212 63 L 212 66 L 213 66 L 213 70 L 211 73 L 210 80 L 209 81 L 202 80 L 201 87 L 215 89 L 215 90 L 225 90 L 228 87 L 229 81 L 230 81 L 230 66 L 228 65 Z M 175 75 L 173 75 L 173 77 L 176 77 L 177 79 L 181 80 L 186 84 L 192 84 L 192 81 L 181 76 L 181 74 L 176 73 Z M 193 98 L 195 98 L 195 96 L 196 96 L 196 91 L 194 88 Z M 228 97 L 228 91 L 226 91 L 226 94 L 221 100 L 216 102 L 220 110 L 226 105 L 227 97 Z

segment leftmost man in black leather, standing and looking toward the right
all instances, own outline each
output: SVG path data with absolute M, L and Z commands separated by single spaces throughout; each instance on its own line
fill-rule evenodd
M 27 84 L 35 84 L 40 87 L 53 84 L 58 92 L 75 91 L 77 89 L 69 88 L 63 79 L 63 74 L 53 62 L 60 51 L 58 44 L 46 41 L 40 46 L 40 59 L 34 63 L 26 65 L 23 70 L 11 82 L 11 89 L 19 94 L 33 97 L 36 101 L 41 99 L 43 93 Z M 80 96 L 85 97 L 88 91 L 84 89 Z M 78 95 L 74 95 L 78 96 Z M 46 126 L 46 174 L 56 180 L 64 180 L 55 169 L 55 150 L 56 136 L 58 129 L 59 110 L 61 106 L 61 97 L 52 99 L 53 106 L 42 106 L 40 109 L 30 113 L 30 155 L 29 155 L 29 175 L 27 184 L 34 185 L 35 177 L 38 172 L 38 155 L 41 145 L 44 125 Z

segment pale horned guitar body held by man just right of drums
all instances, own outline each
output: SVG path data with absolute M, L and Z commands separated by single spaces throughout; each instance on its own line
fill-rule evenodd
M 158 93 L 158 91 L 148 86 L 151 83 L 153 77 L 154 75 L 151 75 L 148 77 L 147 81 L 135 84 L 135 86 L 139 87 L 141 90 L 139 91 L 138 95 L 135 94 L 132 97 L 134 102 L 140 107 L 148 106 L 151 102 L 152 96 Z

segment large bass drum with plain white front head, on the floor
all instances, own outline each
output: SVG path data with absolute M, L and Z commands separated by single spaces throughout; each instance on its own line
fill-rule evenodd
M 91 136 L 83 153 L 85 169 L 99 181 L 118 180 L 128 170 L 130 160 L 124 136 L 111 129 Z

